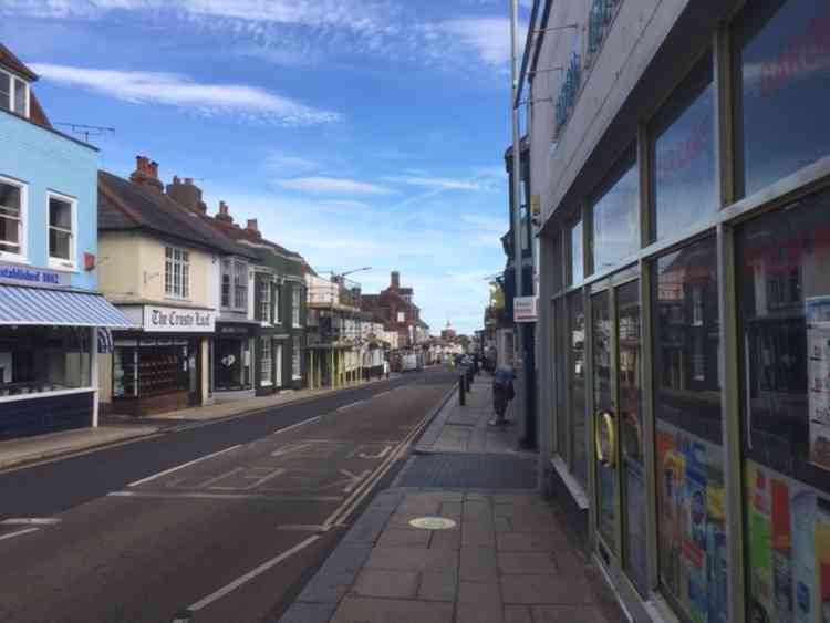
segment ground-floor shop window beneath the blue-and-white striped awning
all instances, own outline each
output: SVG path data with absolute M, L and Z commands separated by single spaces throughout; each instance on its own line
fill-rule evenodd
M 0 396 L 89 387 L 90 330 L 0 326 Z

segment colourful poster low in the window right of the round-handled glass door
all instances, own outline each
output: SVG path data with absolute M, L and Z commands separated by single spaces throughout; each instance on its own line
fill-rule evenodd
M 661 581 L 695 623 L 726 622 L 720 447 L 657 424 Z

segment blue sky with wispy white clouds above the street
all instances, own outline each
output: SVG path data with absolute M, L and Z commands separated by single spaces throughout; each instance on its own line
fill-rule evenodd
M 522 0 L 522 35 L 530 0 Z M 0 0 L 53 124 L 127 177 L 191 177 L 212 214 L 403 285 L 430 331 L 480 329 L 505 267 L 508 0 Z M 70 133 L 71 128 L 58 125 Z

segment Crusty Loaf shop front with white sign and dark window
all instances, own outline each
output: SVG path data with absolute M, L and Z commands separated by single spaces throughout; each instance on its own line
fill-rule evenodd
M 113 334 L 112 409 L 144 416 L 205 404 L 216 312 L 122 305 L 141 331 Z

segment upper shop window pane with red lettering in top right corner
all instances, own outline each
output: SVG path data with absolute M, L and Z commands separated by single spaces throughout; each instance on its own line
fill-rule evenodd
M 750 195 L 830 153 L 830 4 L 753 2 L 735 23 L 737 190 Z

